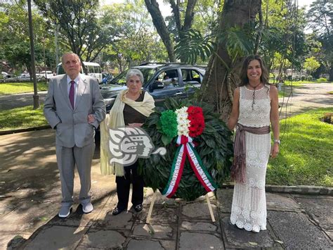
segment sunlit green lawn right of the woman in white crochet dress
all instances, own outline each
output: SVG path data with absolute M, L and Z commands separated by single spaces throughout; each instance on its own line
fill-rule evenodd
M 333 187 L 333 125 L 320 121 L 330 112 L 320 108 L 281 120 L 280 154 L 268 163 L 267 184 Z

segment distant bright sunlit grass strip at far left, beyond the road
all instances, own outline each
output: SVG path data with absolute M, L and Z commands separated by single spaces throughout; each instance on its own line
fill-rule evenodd
M 48 89 L 46 82 L 37 82 L 38 91 L 44 91 Z M 34 92 L 33 82 L 6 82 L 0 83 L 0 95 L 1 94 L 18 94 Z

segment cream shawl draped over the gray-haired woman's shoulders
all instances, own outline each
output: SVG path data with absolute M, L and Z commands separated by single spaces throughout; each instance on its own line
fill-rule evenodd
M 145 116 L 149 116 L 154 108 L 155 101 L 152 96 L 145 92 L 143 101 L 133 101 L 126 97 L 128 90 L 123 90 L 117 95 L 115 104 L 112 106 L 110 114 L 107 114 L 105 120 L 100 123 L 100 172 L 102 175 L 124 176 L 124 166 L 119 163 L 110 164 L 112 155 L 109 146 L 109 128 L 124 127 L 124 106 L 125 104 L 131 106 L 136 111 L 142 113 Z

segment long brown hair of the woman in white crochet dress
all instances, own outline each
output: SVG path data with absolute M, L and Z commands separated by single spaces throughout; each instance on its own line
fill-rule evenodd
M 247 67 L 251 61 L 258 60 L 261 66 L 261 77 L 260 80 L 263 85 L 269 85 L 269 74 L 263 58 L 258 55 L 247 56 L 242 65 L 242 70 L 240 70 L 240 86 L 245 86 L 249 84 L 249 78 L 247 77 Z

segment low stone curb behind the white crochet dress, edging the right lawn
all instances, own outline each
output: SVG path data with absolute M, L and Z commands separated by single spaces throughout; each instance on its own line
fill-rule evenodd
M 234 185 L 223 184 L 222 188 L 233 189 Z M 266 185 L 266 192 L 271 193 L 286 193 L 286 194 L 308 194 L 308 195 L 328 195 L 333 196 L 332 187 L 322 187 L 322 186 L 275 186 L 275 185 Z

